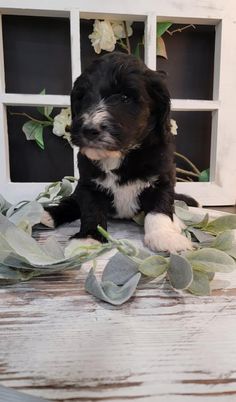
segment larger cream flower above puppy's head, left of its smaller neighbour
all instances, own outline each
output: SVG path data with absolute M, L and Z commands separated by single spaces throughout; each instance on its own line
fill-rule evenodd
M 89 35 L 89 39 L 98 54 L 101 53 L 101 50 L 112 52 L 115 49 L 116 38 L 109 21 L 95 20 L 93 32 Z

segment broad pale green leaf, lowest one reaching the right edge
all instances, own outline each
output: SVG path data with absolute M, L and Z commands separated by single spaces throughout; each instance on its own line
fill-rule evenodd
M 193 269 L 204 272 L 232 272 L 236 264 L 224 251 L 203 248 L 185 253 Z

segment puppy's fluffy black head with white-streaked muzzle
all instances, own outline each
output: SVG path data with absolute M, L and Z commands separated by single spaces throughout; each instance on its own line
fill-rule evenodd
M 72 143 L 90 159 L 119 157 L 168 131 L 170 98 L 160 75 L 111 53 L 85 70 L 71 94 Z

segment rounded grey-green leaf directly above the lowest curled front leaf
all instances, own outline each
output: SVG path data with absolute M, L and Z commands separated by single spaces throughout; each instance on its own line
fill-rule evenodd
M 138 273 L 138 264 L 127 256 L 116 253 L 111 257 L 103 271 L 102 282 L 113 282 L 124 285 L 132 276 Z

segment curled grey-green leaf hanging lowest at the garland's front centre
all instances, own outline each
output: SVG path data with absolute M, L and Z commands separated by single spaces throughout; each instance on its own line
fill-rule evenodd
M 85 289 L 91 295 L 103 300 L 107 303 L 115 306 L 125 303 L 130 297 L 133 296 L 138 282 L 141 278 L 141 274 L 137 273 L 133 275 L 123 286 L 117 286 L 113 282 L 101 282 L 97 281 L 94 275 L 94 270 L 91 269 L 85 282 Z

